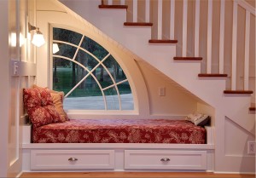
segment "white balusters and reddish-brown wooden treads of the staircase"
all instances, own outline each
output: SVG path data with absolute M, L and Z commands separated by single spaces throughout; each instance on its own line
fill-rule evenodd
M 174 26 L 175 26 L 175 9 L 177 6 L 175 6 L 175 0 L 171 0 L 170 4 L 168 4 L 169 9 L 167 9 L 168 12 L 170 12 L 170 20 L 171 22 L 168 24 L 168 26 L 170 27 L 170 34 L 168 34 L 167 36 L 173 38 L 176 37 L 177 35 L 175 35 L 174 33 Z M 106 4 L 108 3 L 108 4 Z M 127 14 L 131 14 L 132 15 L 132 22 L 125 22 L 124 26 L 153 26 L 154 23 L 152 22 L 148 22 L 148 20 L 150 19 L 149 17 L 147 18 L 147 16 L 149 14 L 153 14 L 154 12 L 150 12 L 149 9 L 149 5 L 150 5 L 150 1 L 145 1 L 144 6 L 140 6 L 139 7 L 139 3 L 137 0 L 133 0 L 132 2 L 130 1 L 130 5 L 132 5 L 132 9 L 129 10 L 129 6 L 125 5 L 125 1 L 121 1 L 120 4 L 116 5 L 113 4 L 113 1 L 108 1 L 108 2 L 104 2 L 102 0 L 102 4 L 99 5 L 100 9 L 126 9 L 128 10 Z M 177 43 L 176 39 L 165 39 L 166 35 L 163 34 L 163 29 L 166 27 L 166 25 L 163 25 L 163 14 L 165 13 L 165 9 L 163 8 L 163 1 L 159 0 L 156 2 L 157 4 L 155 5 L 154 3 L 151 3 L 151 6 L 156 6 L 156 11 L 157 11 L 157 21 L 154 20 L 154 18 L 151 18 L 151 20 L 154 20 L 154 22 L 156 22 L 155 24 L 157 24 L 157 29 L 155 30 L 157 33 L 157 39 L 150 39 L 148 41 L 148 43 Z M 192 54 L 193 56 L 187 56 L 188 55 L 188 46 L 187 43 L 189 41 L 189 37 L 188 36 L 188 13 L 189 13 L 189 2 L 187 0 L 183 0 L 183 34 L 182 34 L 182 56 L 179 57 L 173 57 L 173 60 L 203 60 L 202 57 L 199 57 L 200 51 L 200 35 L 199 32 L 201 30 L 201 26 L 200 26 L 200 20 L 201 20 L 201 1 L 196 0 L 195 2 L 190 2 L 190 3 L 195 3 L 192 4 L 195 7 L 192 7 L 192 11 L 194 10 L 195 16 L 192 17 L 193 23 L 194 23 L 194 27 L 195 29 L 192 29 L 192 31 L 194 30 L 194 41 L 192 44 L 192 48 L 195 49 L 194 54 Z M 202 2 L 203 3 L 203 2 Z M 208 1 L 207 3 L 207 14 L 205 14 L 205 12 L 203 13 L 203 15 L 207 15 L 207 69 L 205 73 L 200 73 L 198 74 L 198 77 L 200 78 L 227 78 L 228 74 L 224 73 L 224 23 L 225 23 L 225 6 L 226 3 L 224 1 L 219 1 L 219 18 L 220 18 L 220 26 L 219 28 L 222 30 L 219 30 L 219 43 L 217 45 L 217 47 L 219 48 L 219 64 L 218 64 L 218 73 L 212 73 L 212 25 L 214 25 L 213 20 L 213 14 L 212 14 L 212 9 L 213 9 L 213 2 L 212 1 Z M 129 1 L 126 2 L 126 4 L 129 4 Z M 171 5 L 171 6 L 170 6 Z M 215 4 L 216 5 L 216 4 Z M 230 4 L 228 4 L 230 5 Z M 253 14 L 253 16 L 255 17 L 255 9 L 253 9 L 253 7 L 248 4 L 245 1 L 237 1 L 235 0 L 234 3 L 232 4 L 233 6 L 233 28 L 234 30 L 231 31 L 233 32 L 233 38 L 232 38 L 232 50 L 238 50 L 236 43 L 237 43 L 237 19 L 238 19 L 238 8 L 241 7 L 241 9 L 244 9 L 246 11 L 246 24 L 245 24 L 245 29 L 246 32 L 244 32 L 245 34 L 245 38 L 243 39 L 245 41 L 245 51 L 244 51 L 244 75 L 242 76 L 243 79 L 243 88 L 241 86 L 236 86 L 236 72 L 238 72 L 238 69 L 236 69 L 236 60 L 237 60 L 237 54 L 235 52 L 232 52 L 232 61 L 230 64 L 231 71 L 232 73 L 230 74 L 230 80 L 231 80 L 231 86 L 227 85 L 226 89 L 224 90 L 224 94 L 253 94 L 253 91 L 255 93 L 255 88 L 253 88 L 252 86 L 249 87 L 249 83 L 251 81 L 249 81 L 250 77 L 253 78 L 253 82 L 251 82 L 251 85 L 255 85 L 255 76 L 253 76 L 253 71 L 255 71 L 255 63 L 252 62 L 251 65 L 253 65 L 253 68 L 251 69 L 251 73 L 249 71 L 249 67 L 250 63 L 249 63 L 249 58 L 253 58 L 253 56 L 249 56 L 249 50 L 253 49 L 252 47 L 250 48 L 250 42 L 249 42 L 249 38 L 252 37 L 253 35 L 250 34 L 250 30 L 255 30 L 254 28 L 250 28 L 250 16 L 251 14 Z M 138 9 L 141 8 L 141 9 Z M 144 14 L 144 19 L 140 18 L 139 16 L 137 16 L 137 12 L 139 12 L 140 10 L 145 11 Z M 154 7 L 153 7 L 154 9 Z M 129 13 L 130 12 L 130 13 Z M 127 15 L 127 20 L 129 19 L 129 16 Z M 130 18 L 131 19 L 131 18 Z M 137 20 L 144 20 L 143 22 L 137 22 Z M 154 29 L 153 29 L 154 31 Z M 154 32 L 152 32 L 152 36 L 154 36 Z M 254 42 L 255 43 L 255 42 Z M 190 52 L 191 53 L 191 52 Z M 255 56 L 254 56 L 255 58 Z M 214 67 L 214 66 L 213 66 Z M 226 72 L 226 70 L 225 70 Z M 230 72 L 229 72 L 230 73 Z M 251 74 L 251 76 L 250 76 Z M 238 89 L 238 88 L 242 88 L 242 89 Z M 250 88 L 250 90 L 249 90 Z M 250 111 L 253 111 L 253 108 L 255 108 L 255 95 L 252 97 L 252 106 L 249 107 Z

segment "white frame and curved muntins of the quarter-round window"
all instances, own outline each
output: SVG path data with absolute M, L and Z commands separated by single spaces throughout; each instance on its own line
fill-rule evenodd
M 76 44 L 73 44 L 73 43 L 68 43 L 68 42 L 64 42 L 64 41 L 59 41 L 59 40 L 53 40 L 53 29 L 54 28 L 62 28 L 62 29 L 66 29 L 66 30 L 69 30 L 69 31 L 73 31 L 73 32 L 78 32 L 79 34 L 82 35 L 81 39 L 80 39 L 80 43 L 79 45 L 76 45 Z M 108 87 L 105 87 L 105 88 L 102 88 L 101 87 L 101 84 L 99 83 L 99 81 L 97 80 L 97 78 L 93 75 L 93 70 L 88 70 L 85 66 L 82 66 L 84 68 L 85 71 L 88 72 L 88 76 L 91 76 L 92 78 L 95 79 L 96 83 L 98 84 L 98 87 L 101 89 L 102 91 L 102 97 L 103 97 L 103 100 L 104 100 L 104 106 L 105 106 L 105 109 L 104 110 L 76 110 L 76 109 L 72 109 L 72 110 L 67 110 L 68 113 L 89 113 L 89 114 L 92 114 L 92 113 L 95 113 L 97 112 L 97 114 L 106 114 L 106 112 L 108 112 L 108 114 L 110 115 L 115 115 L 115 114 L 119 114 L 119 115 L 130 115 L 130 114 L 137 114 L 137 100 L 136 100 L 136 97 L 134 95 L 134 90 L 133 89 L 133 84 L 131 84 L 131 79 L 128 79 L 128 75 L 129 75 L 129 72 L 125 72 L 125 69 L 123 66 L 121 66 L 118 62 L 118 60 L 116 60 L 116 56 L 114 54 L 112 54 L 111 52 L 109 52 L 108 48 L 105 48 L 101 43 L 99 43 L 100 45 L 102 45 L 102 47 L 104 49 L 106 49 L 108 51 L 108 55 L 106 55 L 102 60 L 99 60 L 95 55 L 91 54 L 88 50 L 86 49 L 83 49 L 80 44 L 81 42 L 83 42 L 84 40 L 84 37 L 90 37 L 90 36 L 86 36 L 83 32 L 80 32 L 79 30 L 77 29 L 74 29 L 70 26 L 61 26 L 61 25 L 54 25 L 54 24 L 49 24 L 49 83 L 48 83 L 48 86 L 50 89 L 53 89 L 53 61 L 54 61 L 54 57 L 57 57 L 57 58 L 60 58 L 60 59 L 65 59 L 65 60 L 70 60 L 73 62 L 72 59 L 68 58 L 68 57 L 65 57 L 65 56 L 61 56 L 61 55 L 54 55 L 53 54 L 53 49 L 52 49 L 52 44 L 53 43 L 65 43 L 67 45 L 71 45 L 73 47 L 75 47 L 78 51 L 79 50 L 83 50 L 86 54 L 92 56 L 95 60 L 98 61 L 98 64 L 94 67 L 94 69 L 96 69 L 98 66 L 103 66 L 103 68 L 106 70 L 106 72 L 108 72 L 108 75 L 110 76 L 110 78 L 112 79 L 113 81 L 113 84 L 109 85 Z M 94 42 L 96 42 L 93 38 L 90 37 L 91 40 L 93 40 Z M 97 43 L 97 42 L 96 42 Z M 113 59 L 119 64 L 119 66 L 122 68 L 122 70 L 125 72 L 125 76 L 126 76 L 126 79 L 125 80 L 122 80 L 120 82 L 116 82 L 114 79 L 113 79 L 113 76 L 112 74 L 108 71 L 108 67 L 105 66 L 103 64 L 103 62 L 108 59 L 108 56 L 109 55 L 112 55 L 113 56 Z M 79 62 L 77 63 L 79 65 Z M 81 65 L 79 65 L 81 66 Z M 90 75 L 89 75 L 90 74 Z M 79 81 L 80 83 L 81 81 Z M 133 100 L 133 109 L 132 110 L 122 110 L 122 100 L 121 100 L 121 96 L 119 94 L 119 89 L 118 89 L 118 86 L 120 83 L 125 83 L 125 82 L 128 82 L 129 85 L 130 85 L 130 88 L 131 88 L 131 95 L 132 95 L 132 100 Z M 76 89 L 77 86 L 79 86 L 79 83 L 77 83 L 75 85 L 75 87 L 73 87 L 73 89 L 71 89 L 67 95 L 70 95 L 70 93 L 72 93 L 72 91 L 74 89 Z M 107 104 L 107 99 L 106 99 L 106 95 L 104 94 L 104 90 L 106 89 L 110 89 L 110 88 L 113 88 L 116 90 L 117 92 L 117 97 L 119 99 L 119 109 L 116 109 L 116 110 L 108 110 L 108 104 Z M 65 95 L 65 98 L 67 96 Z

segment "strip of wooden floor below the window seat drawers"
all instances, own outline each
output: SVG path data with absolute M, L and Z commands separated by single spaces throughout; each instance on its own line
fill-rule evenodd
M 255 175 L 230 175 L 213 173 L 177 173 L 177 172 L 55 172 L 55 173 L 23 173 L 20 177 L 137 177 L 137 178 L 162 178 L 162 177 L 255 177 Z

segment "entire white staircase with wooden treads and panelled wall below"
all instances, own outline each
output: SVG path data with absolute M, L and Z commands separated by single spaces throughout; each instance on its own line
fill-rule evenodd
M 60 1 L 67 14 L 214 108 L 215 171 L 254 169 L 255 158 L 245 151 L 247 141 L 255 140 L 251 5 L 243 0 Z

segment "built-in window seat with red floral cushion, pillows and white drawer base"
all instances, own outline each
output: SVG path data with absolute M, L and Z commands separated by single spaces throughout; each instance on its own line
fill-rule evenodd
M 68 119 L 62 101 L 62 93 L 24 89 L 32 122 L 23 129 L 24 171 L 213 169 L 212 128 L 195 125 L 207 119 Z

